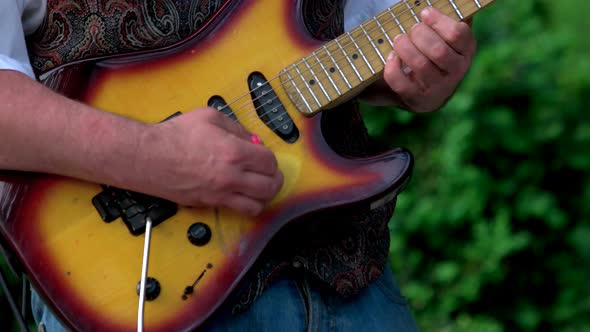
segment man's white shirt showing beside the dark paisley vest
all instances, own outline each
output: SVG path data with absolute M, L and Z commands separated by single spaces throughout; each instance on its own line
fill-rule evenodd
M 398 1 L 346 0 L 344 28 L 348 31 Z M 0 69 L 17 70 L 34 77 L 25 35 L 39 27 L 46 7 L 47 0 L 0 0 Z

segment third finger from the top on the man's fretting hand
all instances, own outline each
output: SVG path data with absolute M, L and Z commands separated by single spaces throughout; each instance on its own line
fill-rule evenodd
M 402 63 L 410 67 L 414 78 L 423 90 L 428 90 L 432 82 L 437 82 L 443 73 L 418 48 L 408 35 L 398 35 L 393 41 L 394 50 Z

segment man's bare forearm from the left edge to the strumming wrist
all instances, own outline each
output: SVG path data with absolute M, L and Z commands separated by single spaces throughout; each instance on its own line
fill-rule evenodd
M 147 125 L 62 97 L 0 70 L 0 169 L 134 187 Z

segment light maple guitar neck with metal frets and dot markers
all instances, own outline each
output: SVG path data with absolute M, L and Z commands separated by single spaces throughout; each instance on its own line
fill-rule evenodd
M 402 0 L 283 69 L 283 88 L 305 115 L 331 108 L 379 79 L 394 38 L 420 22 L 424 8 L 463 21 L 493 1 Z

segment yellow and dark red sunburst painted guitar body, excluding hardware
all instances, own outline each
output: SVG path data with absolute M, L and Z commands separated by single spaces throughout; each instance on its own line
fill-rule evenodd
M 248 76 L 260 72 L 272 79 L 319 45 L 305 32 L 297 3 L 242 1 L 202 40 L 104 61 L 93 70 L 83 101 L 145 122 L 198 109 L 214 95 L 238 100 L 231 107 L 239 122 L 273 150 L 285 175 L 281 192 L 258 218 L 226 209 L 181 208 L 154 228 L 148 275 L 159 280 L 162 291 L 146 304 L 146 330 L 194 329 L 287 222 L 379 199 L 409 176 L 411 157 L 405 150 L 355 160 L 335 154 L 322 137 L 320 117 L 302 116 L 278 80 L 271 85 L 301 132 L 299 140 L 285 143 L 256 116 Z M 143 236 L 132 236 L 120 220 L 100 220 L 90 203 L 100 187 L 44 175 L 13 173 L 0 179 L 0 229 L 58 315 L 78 330 L 135 330 Z M 195 222 L 212 229 L 204 247 L 187 240 Z M 204 270 L 195 292 L 183 300 L 185 287 Z

